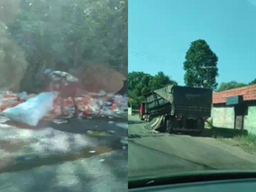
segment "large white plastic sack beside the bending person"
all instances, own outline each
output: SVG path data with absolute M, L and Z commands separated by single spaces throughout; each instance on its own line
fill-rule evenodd
M 55 96 L 54 92 L 40 93 L 16 107 L 5 109 L 2 115 L 13 121 L 36 126 L 52 110 Z

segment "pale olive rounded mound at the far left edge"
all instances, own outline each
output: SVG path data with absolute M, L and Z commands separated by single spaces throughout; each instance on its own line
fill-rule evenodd
M 28 63 L 22 49 L 12 40 L 0 21 L 0 90 L 19 90 Z

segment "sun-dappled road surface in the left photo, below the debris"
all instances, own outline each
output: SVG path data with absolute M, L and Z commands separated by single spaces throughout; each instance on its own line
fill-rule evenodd
M 127 190 L 127 120 L 0 123 L 0 192 Z

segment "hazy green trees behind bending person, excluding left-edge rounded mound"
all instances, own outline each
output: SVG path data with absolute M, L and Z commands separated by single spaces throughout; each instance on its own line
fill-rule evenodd
M 128 0 L 20 0 L 7 25 L 29 63 L 24 90 L 42 85 L 45 68 L 128 66 Z

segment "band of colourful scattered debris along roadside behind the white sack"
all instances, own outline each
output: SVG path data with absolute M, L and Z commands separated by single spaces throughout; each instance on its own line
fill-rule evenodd
M 41 94 L 46 94 L 46 93 L 41 93 Z M 35 95 L 35 94 L 28 95 L 27 92 L 14 93 L 11 91 L 5 91 L 5 92 L 1 91 L 0 92 L 0 113 L 2 112 L 3 114 L 3 111 L 6 109 L 14 108 L 20 104 L 24 105 L 23 103 L 26 103 L 26 102 L 31 102 L 32 98 L 33 100 L 36 100 L 36 98 L 39 95 Z M 109 119 L 124 118 L 124 116 L 126 116 L 126 113 L 127 113 L 126 110 L 128 109 L 127 96 L 123 97 L 121 95 L 113 95 L 113 94 L 111 95 L 111 94 L 107 94 L 106 92 L 86 93 L 85 95 L 77 97 L 75 99 L 75 102 L 79 111 L 79 116 L 77 118 L 80 118 L 80 119 L 81 118 L 92 119 L 92 118 L 99 118 L 99 117 L 102 117 L 102 118 L 108 117 Z M 65 107 L 65 113 L 68 115 L 67 118 L 74 117 L 75 108 L 71 98 L 64 100 L 64 107 Z M 29 119 L 30 123 L 27 123 L 28 120 L 26 120 L 25 124 L 35 126 L 35 124 L 37 123 L 37 120 L 31 123 L 31 119 L 34 118 L 34 117 L 32 118 L 32 116 L 35 116 L 36 113 L 34 112 L 31 113 L 31 110 L 32 108 L 29 110 L 30 111 L 29 114 L 26 115 L 26 118 Z M 54 102 L 52 104 L 52 110 L 47 110 L 47 113 L 44 114 L 43 117 L 40 116 L 39 120 L 41 118 L 46 118 L 46 119 L 52 119 L 52 121 L 56 124 L 66 123 L 66 121 L 55 120 L 56 117 L 59 116 L 60 114 L 61 114 L 60 99 L 55 97 Z M 27 117 L 28 115 L 30 115 L 31 117 Z M 24 118 L 18 118 L 18 122 L 24 123 L 23 121 L 24 121 Z M 109 121 L 109 124 L 114 124 L 114 122 Z

